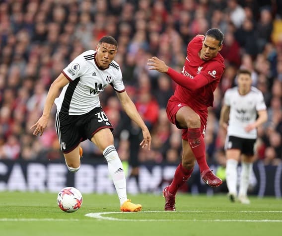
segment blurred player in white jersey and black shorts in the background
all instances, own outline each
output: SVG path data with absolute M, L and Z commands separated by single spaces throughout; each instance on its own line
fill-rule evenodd
M 249 204 L 247 197 L 249 177 L 252 171 L 254 144 L 257 128 L 267 121 L 266 104 L 262 92 L 253 87 L 251 73 L 239 70 L 238 86 L 229 88 L 224 94 L 224 103 L 220 112 L 219 125 L 227 131 L 226 183 L 231 202 Z M 237 166 L 241 161 L 241 177 L 237 194 Z

